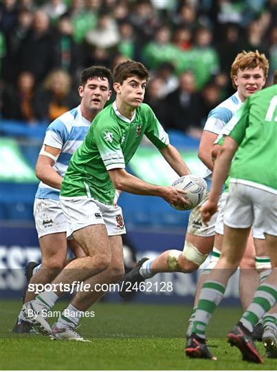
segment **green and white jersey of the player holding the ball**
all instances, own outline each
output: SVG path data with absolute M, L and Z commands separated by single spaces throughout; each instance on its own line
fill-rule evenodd
M 135 110 L 131 120 L 120 114 L 115 102 L 104 108 L 71 157 L 60 198 L 92 197 L 112 205 L 115 187 L 107 171 L 125 168 L 144 134 L 158 149 L 169 143 L 168 134 L 145 103 Z

